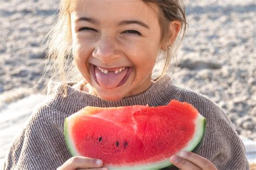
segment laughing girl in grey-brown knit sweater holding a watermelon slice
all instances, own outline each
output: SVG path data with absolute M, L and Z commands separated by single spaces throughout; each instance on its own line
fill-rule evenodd
M 207 119 L 200 153 L 174 155 L 174 165 L 248 169 L 244 146 L 223 110 L 200 94 L 174 86 L 163 74 L 185 28 L 178 0 L 60 1 L 48 43 L 49 57 L 56 63 L 51 69 L 63 83 L 49 84 L 48 98 L 11 146 L 4 169 L 106 169 L 102 160 L 71 158 L 63 137 L 64 119 L 87 105 L 157 106 L 172 99 L 191 103 Z M 160 55 L 165 66 L 153 80 Z M 82 81 L 65 83 L 77 75 Z

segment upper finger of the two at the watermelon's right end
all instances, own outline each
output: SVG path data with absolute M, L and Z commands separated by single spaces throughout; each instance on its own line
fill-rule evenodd
M 192 162 L 192 164 L 197 165 L 201 169 L 216 170 L 217 168 L 208 159 L 201 157 L 193 152 L 181 152 L 180 157 Z

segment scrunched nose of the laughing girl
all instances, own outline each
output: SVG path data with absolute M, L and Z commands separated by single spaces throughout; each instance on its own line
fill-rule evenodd
M 113 60 L 117 60 L 120 57 L 118 43 L 111 38 L 101 38 L 96 43 L 92 56 L 103 63 L 111 63 Z

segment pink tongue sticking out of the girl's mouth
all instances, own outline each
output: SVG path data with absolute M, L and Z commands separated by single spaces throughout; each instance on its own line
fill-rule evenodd
M 128 68 L 125 67 L 125 69 L 121 72 L 114 73 L 114 71 L 109 71 L 109 73 L 105 74 L 99 71 L 98 67 L 96 67 L 95 75 L 100 86 L 102 86 L 105 89 L 113 89 L 114 87 L 117 87 L 120 84 L 120 82 L 125 77 L 127 71 Z

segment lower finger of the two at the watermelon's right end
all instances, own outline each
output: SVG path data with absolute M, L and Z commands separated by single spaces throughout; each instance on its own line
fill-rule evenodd
M 177 155 L 171 157 L 171 162 L 173 165 L 177 166 L 183 170 L 201 170 L 198 166 L 192 164 L 190 161 L 180 158 Z

